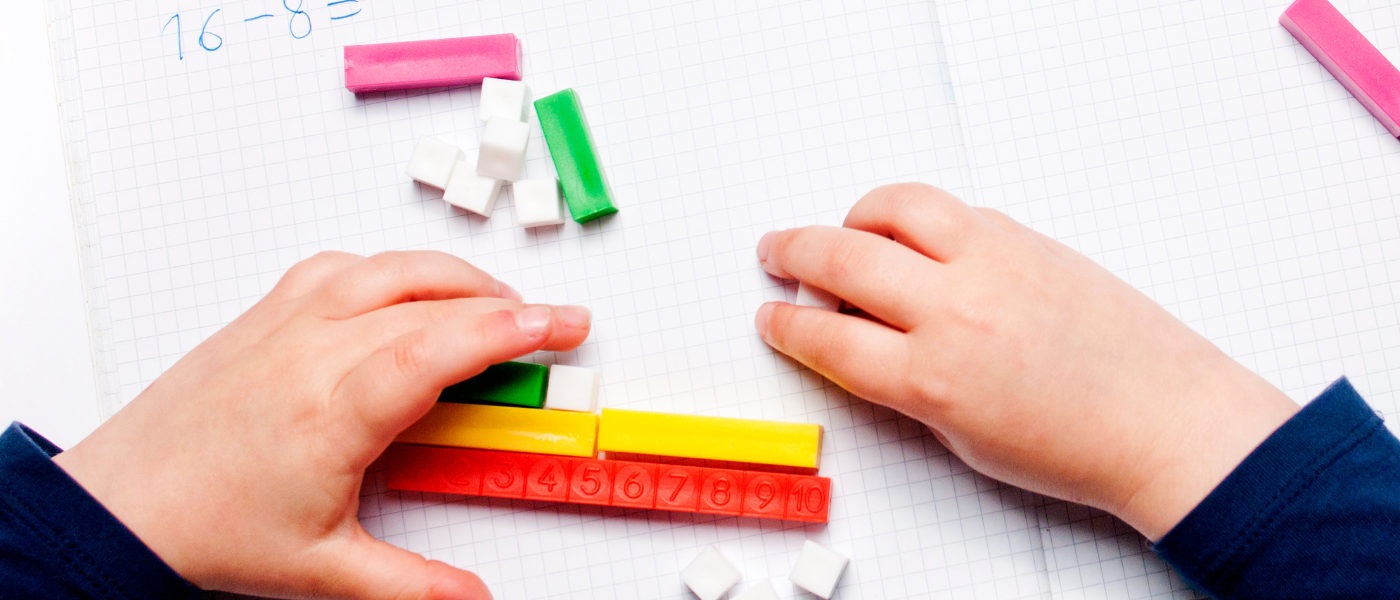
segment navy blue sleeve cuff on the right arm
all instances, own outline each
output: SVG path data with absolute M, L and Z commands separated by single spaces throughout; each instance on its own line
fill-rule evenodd
M 1400 442 L 1341 379 L 1154 547 L 1218 599 L 1400 597 Z

